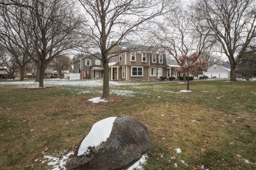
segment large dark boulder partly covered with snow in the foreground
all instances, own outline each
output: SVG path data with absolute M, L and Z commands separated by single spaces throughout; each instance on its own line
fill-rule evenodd
M 126 169 L 151 146 L 145 125 L 130 116 L 108 117 L 95 123 L 79 143 L 71 169 Z

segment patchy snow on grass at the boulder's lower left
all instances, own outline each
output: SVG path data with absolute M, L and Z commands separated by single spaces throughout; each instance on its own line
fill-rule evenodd
M 66 170 L 66 165 L 70 160 L 69 157 L 74 155 L 73 151 L 68 152 L 67 154 L 61 153 L 60 157 L 55 157 L 51 155 L 44 155 L 42 163 L 46 163 L 48 166 L 52 166 L 51 169 L 54 170 Z

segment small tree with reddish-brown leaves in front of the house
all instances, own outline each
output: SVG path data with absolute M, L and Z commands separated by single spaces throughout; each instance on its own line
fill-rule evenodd
M 199 61 L 198 60 L 198 53 L 193 53 L 191 55 L 182 55 L 179 57 L 180 67 L 176 69 L 176 71 L 180 73 L 185 73 L 188 75 L 188 83 L 187 83 L 187 90 L 189 90 L 189 73 L 192 69 L 197 68 L 199 71 L 206 71 L 206 60 Z

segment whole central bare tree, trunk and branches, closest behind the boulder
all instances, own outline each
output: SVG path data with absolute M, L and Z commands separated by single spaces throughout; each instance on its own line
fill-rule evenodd
M 98 48 L 102 54 L 103 94 L 109 97 L 108 61 L 116 45 L 131 39 L 135 32 L 145 30 L 146 21 L 173 10 L 176 0 L 78 0 L 92 23 L 85 32 L 89 47 Z M 91 53 L 92 54 L 92 53 Z

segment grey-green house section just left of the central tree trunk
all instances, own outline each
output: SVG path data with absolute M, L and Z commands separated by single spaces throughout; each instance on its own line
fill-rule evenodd
M 95 57 L 97 56 L 97 57 Z M 103 67 L 101 54 L 95 53 L 73 61 L 73 72 L 80 73 L 81 79 L 101 79 L 103 78 Z

